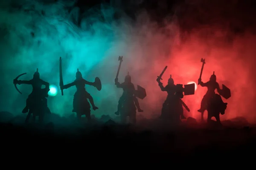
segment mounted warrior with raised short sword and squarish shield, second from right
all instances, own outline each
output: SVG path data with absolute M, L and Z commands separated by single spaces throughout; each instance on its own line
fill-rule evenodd
M 172 75 L 168 79 L 168 84 L 164 87 L 161 82 L 162 76 L 166 71 L 167 66 L 163 69 L 160 76 L 157 77 L 158 85 L 161 91 L 167 92 L 167 98 L 163 103 L 163 108 L 161 112 L 161 119 L 167 119 L 168 121 L 172 120 L 173 123 L 179 123 L 180 119 L 186 119 L 183 114 L 183 107 L 190 111 L 188 106 L 182 101 L 183 96 L 195 94 L 195 84 L 183 85 L 182 84 L 174 84 L 174 80 L 172 79 Z M 184 95 L 183 95 L 184 92 Z

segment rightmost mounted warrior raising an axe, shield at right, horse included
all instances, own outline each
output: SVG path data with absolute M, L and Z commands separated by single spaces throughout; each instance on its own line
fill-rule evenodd
M 207 93 L 204 95 L 201 101 L 201 108 L 198 110 L 198 112 L 201 113 L 201 121 L 204 121 L 204 111 L 207 110 L 207 122 L 209 122 L 212 117 L 215 117 L 216 121 L 221 124 L 220 113 L 222 115 L 225 114 L 225 110 L 227 109 L 227 103 L 223 102 L 221 96 L 223 96 L 225 99 L 228 99 L 231 97 L 231 92 L 230 89 L 227 88 L 225 85 L 222 85 L 222 89 L 220 89 L 214 71 L 208 82 L 202 82 L 201 77 L 204 69 L 205 59 L 202 58 L 201 62 L 202 68 L 200 77 L 198 79 L 198 85 L 201 85 L 202 87 L 207 87 Z M 215 94 L 215 89 L 217 89 L 220 95 Z

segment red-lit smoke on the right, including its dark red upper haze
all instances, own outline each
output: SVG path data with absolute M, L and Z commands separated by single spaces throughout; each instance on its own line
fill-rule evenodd
M 142 24 L 140 31 L 134 35 L 130 52 L 126 54 L 131 56 L 128 70 L 133 70 L 133 82 L 147 90 L 147 97 L 140 100 L 144 113 L 138 114 L 147 118 L 160 116 L 167 93 L 160 90 L 156 79 L 166 65 L 168 68 L 162 77 L 163 85 L 167 84 L 170 74 L 175 84 L 186 84 L 188 81 L 197 82 L 202 66 L 201 58 L 205 58 L 202 81 L 209 81 L 215 71 L 220 87 L 224 84 L 231 90 L 230 99 L 223 98 L 228 105 L 226 113 L 221 115 L 221 120 L 243 116 L 249 122 L 256 122 L 256 35 L 250 28 L 244 28 L 244 19 L 238 21 L 236 18 L 243 16 L 247 20 L 254 19 L 249 12 L 248 15 L 239 14 L 242 10 L 236 3 L 227 6 L 227 2 L 221 2 L 212 1 L 210 4 L 208 1 L 200 1 L 198 4 L 187 4 L 195 10 L 183 10 L 183 18 L 177 19 L 179 24 L 169 23 L 164 28 L 157 28 L 154 23 Z M 221 16 L 220 6 L 226 14 L 230 14 L 230 18 Z M 201 24 L 198 21 L 200 16 L 204 16 L 202 20 L 209 22 Z M 145 16 L 139 19 L 144 21 L 143 17 Z M 232 22 L 244 28 L 244 33 L 236 34 L 230 30 L 228 26 Z M 193 29 L 184 31 L 189 26 L 193 26 Z M 180 27 L 183 27 L 182 31 Z M 169 31 L 169 35 L 163 34 L 164 31 Z M 190 112 L 184 109 L 186 117 L 200 119 L 201 113 L 197 110 L 206 91 L 207 88 L 198 86 L 195 95 L 184 96 L 183 101 L 190 109 Z M 207 112 L 204 117 L 206 116 Z

